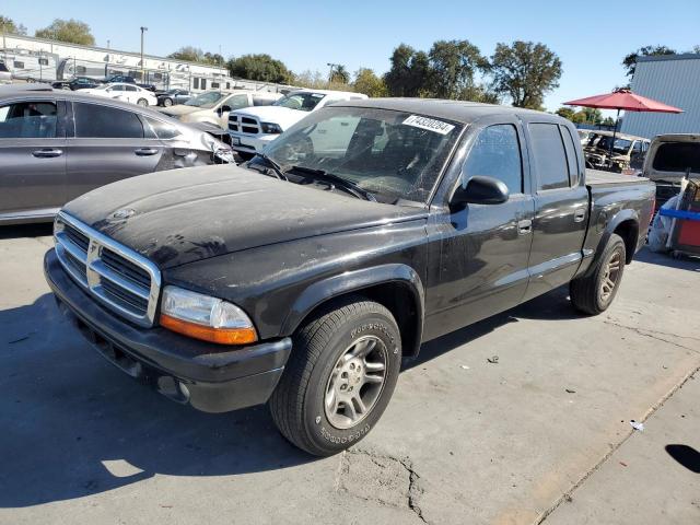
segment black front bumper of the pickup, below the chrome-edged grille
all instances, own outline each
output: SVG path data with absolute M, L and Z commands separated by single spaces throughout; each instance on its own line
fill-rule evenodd
M 282 375 L 290 338 L 226 351 L 164 328 L 137 328 L 88 296 L 54 249 L 44 258 L 44 273 L 61 311 L 103 357 L 175 401 L 205 412 L 259 405 Z

